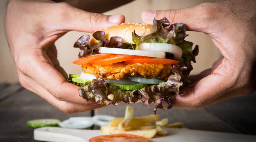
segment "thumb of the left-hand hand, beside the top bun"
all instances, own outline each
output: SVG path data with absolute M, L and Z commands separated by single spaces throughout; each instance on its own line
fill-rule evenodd
M 71 7 L 62 20 L 64 24 L 63 30 L 94 33 L 104 28 L 124 23 L 125 17 L 124 15 L 109 16 L 92 13 Z

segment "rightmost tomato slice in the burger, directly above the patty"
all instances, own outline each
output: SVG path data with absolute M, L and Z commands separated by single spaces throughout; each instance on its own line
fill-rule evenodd
M 163 58 L 143 58 L 143 59 L 133 59 L 129 61 L 124 61 L 125 64 L 179 64 L 179 61 L 171 60 L 171 59 L 163 59 Z

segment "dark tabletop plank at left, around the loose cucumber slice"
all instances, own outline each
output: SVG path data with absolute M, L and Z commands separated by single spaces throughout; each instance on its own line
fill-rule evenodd
M 0 103 L 0 141 L 32 142 L 34 128 L 26 125 L 28 120 L 56 118 L 60 120 L 73 116 L 91 116 L 91 112 L 65 114 L 53 107 L 35 93 L 26 89 Z

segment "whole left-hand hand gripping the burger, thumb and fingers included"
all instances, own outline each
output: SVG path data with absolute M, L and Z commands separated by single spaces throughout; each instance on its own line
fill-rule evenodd
M 90 32 L 124 22 L 123 15 L 107 16 L 49 0 L 12 0 L 5 16 L 7 41 L 20 84 L 65 113 L 102 107 L 78 95 L 60 67 L 54 42 L 68 31 Z

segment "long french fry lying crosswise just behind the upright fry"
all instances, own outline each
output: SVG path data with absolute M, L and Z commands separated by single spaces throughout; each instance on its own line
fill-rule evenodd
M 119 123 L 121 123 L 124 118 L 114 118 L 110 120 L 108 123 L 109 126 L 118 127 Z M 149 116 L 141 116 L 141 117 L 133 117 L 131 123 L 128 126 L 141 126 L 145 123 L 152 123 L 160 120 L 159 115 L 149 115 Z

